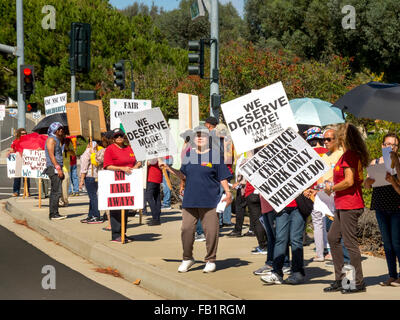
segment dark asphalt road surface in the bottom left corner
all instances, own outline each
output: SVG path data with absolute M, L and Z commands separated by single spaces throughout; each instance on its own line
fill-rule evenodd
M 55 261 L 2 226 L 0 252 L 0 300 L 127 299 Z

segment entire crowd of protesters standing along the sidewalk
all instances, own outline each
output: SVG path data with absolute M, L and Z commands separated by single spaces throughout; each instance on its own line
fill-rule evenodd
M 17 139 L 26 133 L 26 130 L 19 129 Z M 261 281 L 267 284 L 304 283 L 304 235 L 311 216 L 315 242 L 312 261 L 330 263 L 334 267 L 334 281 L 324 288 L 324 292 L 364 292 L 366 284 L 357 241 L 358 220 L 364 211 L 364 186 L 373 189 L 371 209 L 376 211 L 389 271 L 388 280 L 380 284 L 400 286 L 396 264 L 396 260 L 400 262 L 400 181 L 397 175 L 387 173 L 385 179 L 389 184 L 382 187 L 374 187 L 375 180 L 370 177 L 363 181 L 363 169 L 383 163 L 383 158 L 370 161 L 364 138 L 352 124 L 325 130 L 312 127 L 301 134 L 330 169 L 280 212 L 275 212 L 240 171 L 240 166 L 260 148 L 234 156 L 228 130 L 215 118 L 210 117 L 205 126 L 181 134 L 185 143 L 181 151 L 180 170 L 172 168 L 172 157 L 147 161 L 144 208 L 148 203 L 152 216 L 150 226 L 160 225 L 161 209 L 171 208 L 172 190 L 167 183 L 170 174 L 180 179 L 183 259 L 178 272 L 187 272 L 195 263 L 194 241 L 205 241 L 206 244 L 203 271 L 217 270 L 219 230 L 224 226 L 233 226 L 229 237 L 253 236 L 256 247 L 250 250 L 251 253 L 265 255 L 264 265 L 254 271 L 255 275 L 261 276 Z M 399 172 L 398 136 L 388 133 L 382 141 L 384 147 L 392 148 L 391 160 L 396 172 Z M 71 179 L 69 175 L 72 175 L 74 166 L 76 172 L 76 154 L 60 123 L 53 123 L 48 129 L 45 154 L 45 173 L 51 182 L 49 218 L 64 219 L 58 208 L 68 205 L 69 181 L 75 183 L 75 178 Z M 72 164 L 73 157 L 75 162 Z M 79 189 L 85 186 L 89 196 L 88 216 L 81 222 L 98 224 L 108 221 L 109 225 L 103 229 L 111 231 L 112 241 L 121 242 L 128 215 L 125 215 L 124 230 L 121 210 L 111 210 L 101 216 L 97 198 L 98 171 L 124 171 L 129 174 L 142 165 L 136 161 L 121 129 L 108 131 L 102 141 L 89 143 L 80 157 Z M 14 179 L 14 196 L 19 195 L 18 179 Z M 73 186 L 73 195 L 79 189 L 76 192 Z M 242 234 L 246 211 L 250 227 Z M 235 213 L 234 225 L 231 222 L 232 212 Z M 129 241 L 129 237 L 125 239 Z M 343 285 L 346 267 L 354 272 L 353 286 Z M 288 277 L 284 280 L 285 274 Z

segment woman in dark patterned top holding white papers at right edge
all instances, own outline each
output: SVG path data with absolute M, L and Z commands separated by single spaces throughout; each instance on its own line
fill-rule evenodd
M 383 148 L 392 149 L 391 155 L 394 155 L 392 161 L 394 160 L 394 164 L 398 164 L 399 138 L 395 133 L 385 135 L 382 141 Z M 380 157 L 373 160 L 370 166 L 383 163 L 383 157 Z M 376 220 L 382 234 L 383 248 L 385 249 L 385 257 L 389 269 L 389 279 L 385 282 L 380 282 L 381 286 L 400 286 L 396 265 L 396 257 L 400 263 L 400 195 L 396 192 L 396 188 L 398 188 L 396 176 L 387 173 L 387 180 L 391 184 L 380 187 L 374 187 L 375 179 L 370 177 L 364 183 L 366 189 L 372 187 L 371 210 L 375 210 L 376 213 Z

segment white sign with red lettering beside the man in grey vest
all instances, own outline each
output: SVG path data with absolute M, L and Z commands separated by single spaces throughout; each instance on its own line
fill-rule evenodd
M 46 169 L 44 150 L 24 149 L 22 153 L 22 177 L 49 179 L 43 171 Z

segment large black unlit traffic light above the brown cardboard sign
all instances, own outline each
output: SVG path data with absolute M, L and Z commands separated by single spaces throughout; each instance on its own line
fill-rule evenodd
M 88 23 L 72 22 L 69 32 L 69 64 L 71 73 L 89 73 L 90 71 L 90 36 Z

